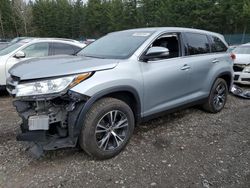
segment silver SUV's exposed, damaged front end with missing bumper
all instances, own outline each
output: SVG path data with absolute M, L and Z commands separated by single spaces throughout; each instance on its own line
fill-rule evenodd
M 7 90 L 16 97 L 19 78 L 11 76 Z M 80 130 L 76 123 L 88 96 L 69 89 L 45 95 L 16 97 L 13 104 L 22 118 L 18 141 L 34 143 L 32 154 L 40 157 L 44 150 L 75 147 Z

